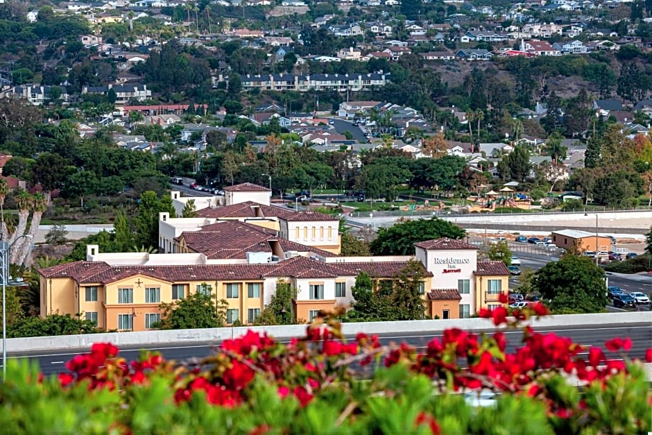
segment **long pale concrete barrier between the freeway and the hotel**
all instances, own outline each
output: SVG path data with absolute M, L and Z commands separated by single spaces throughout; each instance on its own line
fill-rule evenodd
M 547 316 L 531 321 L 533 327 L 578 327 L 585 325 L 649 323 L 649 312 L 569 314 Z M 203 330 L 170 330 L 144 332 L 109 332 L 105 334 L 41 336 L 24 339 L 8 339 L 7 352 L 34 352 L 38 350 L 71 350 L 89 348 L 92 343 L 114 343 L 117 346 L 141 346 L 171 343 L 205 343 L 232 339 L 247 330 L 267 332 L 278 339 L 304 336 L 307 325 L 218 327 Z M 490 321 L 483 318 L 454 318 L 447 320 L 343 323 L 344 334 L 358 332 L 367 334 L 428 332 L 437 334 L 451 327 L 464 330 L 492 330 Z

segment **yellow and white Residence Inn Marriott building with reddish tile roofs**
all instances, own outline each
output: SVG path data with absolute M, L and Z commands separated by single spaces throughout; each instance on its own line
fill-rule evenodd
M 320 309 L 349 305 L 360 272 L 377 283 L 395 280 L 414 258 L 338 257 L 273 237 L 252 238 L 256 231 L 266 232 L 254 225 L 214 225 L 224 225 L 223 231 L 209 228 L 187 239 L 183 234 L 187 253 L 100 253 L 90 245 L 87 261 L 41 269 L 41 315 L 79 313 L 108 330 L 148 330 L 160 320 L 161 302 L 199 292 L 228 302 L 228 323 L 253 323 L 277 284 L 288 282 L 296 291 L 293 316 L 311 321 Z M 483 307 L 497 307 L 500 294 L 508 293 L 506 266 L 477 261 L 475 246 L 449 239 L 415 246 L 423 266 L 424 317 L 467 318 Z

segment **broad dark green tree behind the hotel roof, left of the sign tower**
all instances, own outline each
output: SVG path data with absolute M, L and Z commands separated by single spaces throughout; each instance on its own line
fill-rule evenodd
M 461 239 L 465 234 L 465 230 L 454 223 L 437 217 L 418 219 L 380 228 L 370 248 L 373 255 L 413 255 L 414 244 L 419 241 L 442 237 Z

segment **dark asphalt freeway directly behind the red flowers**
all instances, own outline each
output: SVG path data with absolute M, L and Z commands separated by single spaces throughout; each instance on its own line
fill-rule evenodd
M 652 319 L 651 319 L 652 320 Z M 627 353 L 630 358 L 643 358 L 645 350 L 652 347 L 652 327 L 651 323 L 633 323 L 626 326 L 622 325 L 594 325 L 588 327 L 548 327 L 538 330 L 542 333 L 554 332 L 559 336 L 568 336 L 576 343 L 583 346 L 600 346 L 605 350 L 606 356 L 610 359 L 619 359 L 619 355 L 612 354 L 604 349 L 604 341 L 614 337 L 630 337 L 633 341 L 632 349 Z M 427 343 L 435 337 L 440 337 L 438 332 L 413 332 L 411 334 L 380 334 L 381 343 L 401 343 L 405 342 L 417 348 L 424 348 Z M 513 350 L 520 343 L 521 332 L 509 331 L 506 336 L 510 346 L 508 351 Z M 352 338 L 352 336 L 348 336 Z M 289 340 L 282 340 L 288 343 Z M 160 345 L 142 346 L 143 349 L 161 352 L 166 359 L 175 361 L 189 361 L 195 358 L 207 357 L 212 353 L 212 347 L 218 345 L 215 343 L 169 343 Z M 120 356 L 128 360 L 138 358 L 141 348 L 121 348 Z M 52 375 L 66 371 L 65 362 L 80 352 L 87 352 L 87 349 L 67 350 L 67 351 L 40 351 L 26 354 L 11 354 L 8 359 L 29 359 L 37 362 L 45 375 Z

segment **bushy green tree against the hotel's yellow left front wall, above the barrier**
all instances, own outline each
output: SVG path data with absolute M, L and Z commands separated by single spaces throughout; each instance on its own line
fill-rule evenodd
M 162 330 L 186 330 L 205 327 L 222 327 L 226 322 L 228 302 L 216 301 L 214 295 L 192 293 L 187 298 L 171 303 L 163 302 L 161 310 Z

